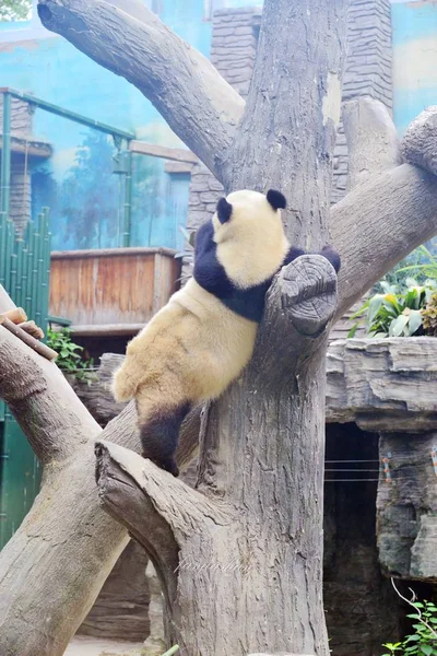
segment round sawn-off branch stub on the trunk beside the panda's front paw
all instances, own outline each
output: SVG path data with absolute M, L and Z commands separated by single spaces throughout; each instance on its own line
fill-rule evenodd
M 268 292 L 253 362 L 264 386 L 284 386 L 296 374 L 302 355 L 328 335 L 335 307 L 336 274 L 324 257 L 305 255 L 282 269 Z

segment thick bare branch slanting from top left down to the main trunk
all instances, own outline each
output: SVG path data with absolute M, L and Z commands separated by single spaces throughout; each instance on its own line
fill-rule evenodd
M 39 17 L 125 77 L 221 179 L 244 101 L 212 63 L 139 0 L 40 0 Z

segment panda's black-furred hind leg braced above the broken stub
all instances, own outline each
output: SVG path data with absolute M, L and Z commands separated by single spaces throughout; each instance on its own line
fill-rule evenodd
M 175 454 L 179 438 L 180 424 L 190 409 L 190 403 L 177 408 L 160 410 L 147 421 L 140 424 L 140 438 L 143 458 L 150 458 L 155 465 L 178 476 Z

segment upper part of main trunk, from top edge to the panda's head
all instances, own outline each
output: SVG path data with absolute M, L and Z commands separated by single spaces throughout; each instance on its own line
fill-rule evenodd
M 245 113 L 222 179 L 227 190 L 281 189 L 291 243 L 312 250 L 329 236 L 345 4 L 299 1 L 291 10 L 288 0 L 264 2 L 269 20 L 262 21 Z

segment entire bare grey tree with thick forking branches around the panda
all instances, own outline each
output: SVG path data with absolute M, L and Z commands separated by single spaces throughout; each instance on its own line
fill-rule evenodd
M 333 319 L 437 233 L 436 172 L 433 157 L 422 157 L 435 152 L 433 117 L 413 125 L 404 142 L 404 156 L 423 168 L 395 166 L 391 155 L 381 166 L 392 126 L 379 120 L 375 144 L 378 130 L 366 130 L 358 112 L 350 142 L 366 147 L 367 172 L 376 173 L 330 211 L 345 9 L 346 0 L 267 0 L 245 105 L 142 2 L 40 0 L 45 26 L 135 84 L 227 191 L 281 189 L 291 241 L 317 249 L 330 238 L 342 271 L 338 292 L 333 269 L 318 256 L 276 277 L 252 363 L 202 414 L 197 490 L 130 450 L 131 406 L 99 435 L 55 365 L 0 329 L 0 395 L 45 462 L 42 493 L 0 559 L 5 656 L 62 654 L 126 544 L 121 524 L 157 567 L 167 634 L 182 654 L 328 655 L 327 336 Z M 185 426 L 186 460 L 198 427 L 194 413 Z M 117 520 L 97 506 L 96 437 L 98 493 Z

